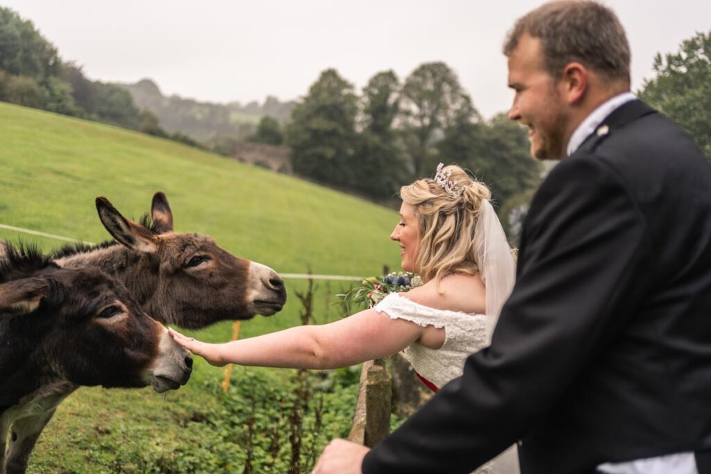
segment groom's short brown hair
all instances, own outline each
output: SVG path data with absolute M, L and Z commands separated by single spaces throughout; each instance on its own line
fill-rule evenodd
M 528 33 L 542 44 L 545 70 L 559 78 L 565 65 L 581 63 L 604 78 L 630 82 L 627 37 L 611 9 L 597 1 L 551 1 L 516 21 L 503 45 L 509 56 Z

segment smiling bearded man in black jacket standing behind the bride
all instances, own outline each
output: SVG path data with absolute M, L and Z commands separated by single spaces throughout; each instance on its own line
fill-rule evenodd
M 653 34 L 653 33 L 650 33 Z M 711 165 L 629 92 L 629 45 L 592 1 L 520 18 L 510 119 L 562 158 L 533 198 L 491 346 L 368 452 L 322 473 L 711 472 Z

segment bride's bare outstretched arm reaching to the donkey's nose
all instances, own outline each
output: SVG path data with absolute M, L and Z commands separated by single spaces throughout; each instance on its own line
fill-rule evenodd
M 173 329 L 170 333 L 176 343 L 212 365 L 333 369 L 395 354 L 418 340 L 424 330 L 368 309 L 329 324 L 296 326 L 224 344 L 203 343 Z

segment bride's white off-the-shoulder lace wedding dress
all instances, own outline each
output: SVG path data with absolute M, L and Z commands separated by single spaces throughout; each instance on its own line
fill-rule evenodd
M 437 389 L 459 377 L 464 371 L 466 357 L 491 342 L 491 330 L 496 321 L 488 321 L 485 314 L 468 314 L 423 306 L 400 293 L 390 293 L 373 306 L 378 313 L 392 319 L 435 328 L 444 328 L 444 344 L 439 349 L 430 349 L 413 343 L 401 353 L 417 374 Z M 497 458 L 474 471 L 476 474 L 518 474 L 518 457 L 511 446 Z

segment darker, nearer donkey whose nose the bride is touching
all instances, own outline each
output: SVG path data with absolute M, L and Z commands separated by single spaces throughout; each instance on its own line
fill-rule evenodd
M 0 473 L 25 472 L 58 404 L 77 387 L 188 382 L 193 360 L 119 282 L 4 246 L 0 259 Z

